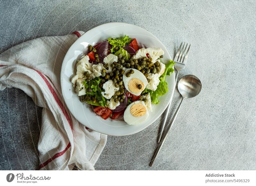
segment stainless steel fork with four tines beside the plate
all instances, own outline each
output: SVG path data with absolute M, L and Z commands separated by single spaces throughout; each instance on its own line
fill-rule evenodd
M 186 66 L 186 62 L 187 62 L 187 59 L 188 59 L 188 51 L 189 51 L 189 48 L 190 48 L 190 44 L 189 44 L 189 47 L 188 47 L 188 43 L 186 44 L 184 42 L 183 45 L 182 45 L 182 43 L 183 42 L 180 43 L 180 47 L 179 47 L 179 49 L 177 51 L 177 54 L 174 58 L 174 62 L 176 63 L 174 65 L 174 68 L 176 70 L 175 83 L 174 83 L 175 86 L 176 86 L 176 83 L 177 83 L 177 79 L 178 79 L 178 75 L 179 75 L 180 70 L 183 70 Z M 185 44 L 186 44 L 186 46 L 185 46 Z M 182 46 L 182 48 L 181 48 L 181 46 Z M 185 49 L 184 49 L 184 46 L 185 46 Z M 188 47 L 188 50 L 187 50 L 187 47 Z M 164 126 L 165 126 L 165 123 L 166 123 L 166 120 L 167 120 L 167 117 L 168 117 L 168 114 L 169 114 L 169 111 L 170 111 L 170 106 L 171 106 L 171 102 L 169 103 L 169 105 L 166 108 L 165 113 L 164 113 L 164 120 L 163 120 L 163 124 L 162 124 L 161 130 L 160 130 L 160 134 L 158 136 L 158 141 L 157 141 L 158 143 L 160 142 L 163 131 L 164 131 Z

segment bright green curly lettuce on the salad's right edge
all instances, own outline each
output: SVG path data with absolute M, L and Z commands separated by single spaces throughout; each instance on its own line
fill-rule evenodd
M 168 92 L 168 83 L 165 82 L 165 77 L 166 77 L 166 75 L 170 76 L 174 72 L 174 69 L 172 68 L 174 64 L 175 63 L 172 60 L 170 60 L 167 64 L 165 64 L 164 73 L 159 77 L 160 82 L 157 85 L 157 89 L 155 91 L 149 90 L 149 89 L 146 88 L 142 92 L 142 94 L 144 94 L 144 93 L 149 93 L 150 94 L 151 103 L 158 104 L 159 103 L 158 98 L 160 96 L 163 96 L 164 94 L 166 94 Z

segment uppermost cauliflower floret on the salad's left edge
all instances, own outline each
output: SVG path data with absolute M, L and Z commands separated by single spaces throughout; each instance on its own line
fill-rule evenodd
M 80 61 L 76 64 L 76 74 L 79 78 L 84 77 L 84 72 L 89 72 L 89 74 L 92 74 L 92 64 L 89 62 L 89 56 L 84 56 Z

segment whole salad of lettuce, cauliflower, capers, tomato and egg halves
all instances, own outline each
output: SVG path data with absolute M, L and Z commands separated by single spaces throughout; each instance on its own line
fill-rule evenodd
M 80 101 L 105 120 L 140 124 L 168 92 L 165 78 L 175 63 L 164 63 L 161 48 L 141 48 L 125 35 L 88 45 L 88 52 L 77 60 L 71 83 Z

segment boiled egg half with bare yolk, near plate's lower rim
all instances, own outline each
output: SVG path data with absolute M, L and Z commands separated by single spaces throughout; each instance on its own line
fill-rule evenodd
M 129 125 L 138 125 L 148 116 L 148 109 L 144 101 L 134 101 L 124 111 L 124 121 Z

